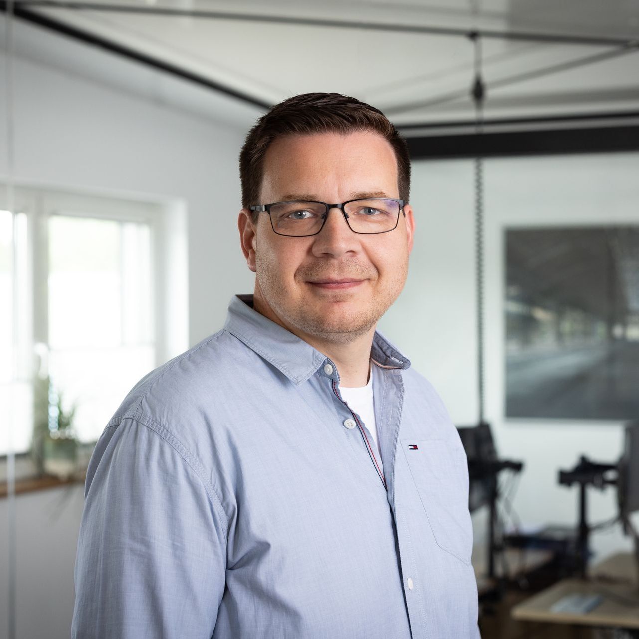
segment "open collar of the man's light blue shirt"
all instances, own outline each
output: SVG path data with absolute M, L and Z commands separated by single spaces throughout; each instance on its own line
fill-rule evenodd
M 252 295 L 233 296 L 224 328 L 296 385 L 308 380 L 327 361 L 326 355 L 311 344 L 255 311 Z M 371 360 L 381 368 L 410 366 L 408 358 L 377 331 L 371 346 Z

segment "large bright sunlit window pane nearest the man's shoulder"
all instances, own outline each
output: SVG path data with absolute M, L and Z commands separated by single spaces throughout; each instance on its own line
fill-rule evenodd
M 154 366 L 150 260 L 147 224 L 49 219 L 49 374 L 81 441 Z

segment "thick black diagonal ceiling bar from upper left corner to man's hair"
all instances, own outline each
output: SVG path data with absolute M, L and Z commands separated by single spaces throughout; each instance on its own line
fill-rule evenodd
M 41 13 L 33 12 L 25 7 L 28 3 L 15 3 L 13 4 L 12 14 L 20 20 L 24 20 L 25 22 L 30 22 L 31 24 L 36 24 L 40 27 L 44 27 L 45 29 L 49 29 L 49 31 L 54 31 L 60 35 L 67 36 L 68 38 L 72 38 L 73 40 L 77 40 L 78 42 L 82 42 L 93 47 L 97 47 L 98 49 L 103 49 L 110 53 L 118 54 L 124 58 L 134 60 L 136 62 L 142 63 L 143 65 L 150 66 L 158 71 L 162 71 L 164 73 L 168 73 L 169 75 L 173 75 L 174 77 L 178 77 L 181 80 L 187 80 L 189 82 L 194 82 L 194 84 L 198 84 L 199 86 L 203 86 L 207 89 L 213 89 L 219 93 L 224 93 L 224 95 L 228 95 L 232 98 L 236 98 L 237 100 L 242 100 L 242 102 L 246 102 L 254 107 L 258 107 L 259 109 L 266 111 L 270 109 L 272 106 L 268 102 L 264 100 L 260 100 L 249 93 L 244 93 L 243 91 L 238 91 L 238 89 L 233 89 L 226 84 L 222 84 L 221 82 L 217 82 L 215 80 L 211 80 L 203 75 L 199 75 L 198 73 L 193 73 L 187 69 L 181 68 L 176 65 L 172 65 L 164 60 L 153 58 L 152 56 L 148 56 L 144 53 L 136 51 L 135 49 L 131 49 L 130 47 L 125 47 L 116 42 L 112 42 L 111 40 L 107 40 L 106 38 L 102 38 L 93 33 L 89 33 L 88 31 L 83 31 L 77 27 L 70 26 L 65 22 L 61 22 L 60 20 L 55 20 L 48 16 L 42 15 Z M 8 3 L 6 0 L 0 0 L 0 11 L 7 13 L 8 12 Z

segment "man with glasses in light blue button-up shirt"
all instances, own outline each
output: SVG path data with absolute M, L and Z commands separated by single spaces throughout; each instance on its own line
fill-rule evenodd
M 479 636 L 459 436 L 375 332 L 406 279 L 409 172 L 394 127 L 353 98 L 296 96 L 250 131 L 254 295 L 100 438 L 74 637 Z

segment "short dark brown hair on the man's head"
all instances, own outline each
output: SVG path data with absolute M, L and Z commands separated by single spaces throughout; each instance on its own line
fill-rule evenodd
M 386 116 L 379 109 L 340 93 L 304 93 L 272 107 L 246 136 L 240 151 L 242 206 L 263 204 L 259 202 L 259 192 L 264 178 L 264 158 L 275 139 L 286 135 L 357 131 L 378 133 L 389 142 L 397 159 L 399 199 L 407 201 L 410 191 L 408 147 Z M 258 213 L 254 213 L 254 222 L 257 216 Z

